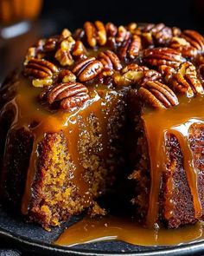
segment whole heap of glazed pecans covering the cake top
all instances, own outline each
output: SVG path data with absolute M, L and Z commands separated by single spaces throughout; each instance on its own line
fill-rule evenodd
M 23 75 L 46 88 L 41 101 L 50 108 L 80 107 L 90 98 L 89 86 L 100 83 L 131 87 L 152 108 L 169 108 L 178 103 L 175 93 L 204 94 L 203 56 L 204 38 L 194 30 L 86 22 L 73 34 L 65 29 L 30 47 Z

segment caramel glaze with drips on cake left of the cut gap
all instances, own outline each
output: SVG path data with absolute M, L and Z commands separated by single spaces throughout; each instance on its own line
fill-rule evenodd
M 35 179 L 38 159 L 38 145 L 47 133 L 59 131 L 63 131 L 63 134 L 67 136 L 68 153 L 75 166 L 71 179 L 73 184 L 78 187 L 78 192 L 84 199 L 84 206 L 88 207 L 92 203 L 92 194 L 90 194 L 90 184 L 83 177 L 85 168 L 80 161 L 82 157 L 79 148 L 77 148 L 82 129 L 80 123 L 83 122 L 83 128 L 88 130 L 87 120 L 90 113 L 101 121 L 100 129 L 103 148 L 101 148 L 99 155 L 106 159 L 111 150 L 107 147 L 107 117 L 112 114 L 115 104 L 124 94 L 107 89 L 103 85 L 90 86 L 89 91 L 92 94 L 92 99 L 87 101 L 82 108 L 76 109 L 73 112 L 51 111 L 41 106 L 40 102 L 37 101 L 37 96 L 41 93 L 41 89 L 34 88 L 27 79 L 21 77 L 15 86 L 17 89 L 16 96 L 3 107 L 3 112 L 8 108 L 15 108 L 16 116 L 10 129 L 23 127 L 34 135 L 33 150 L 30 156 L 27 180 L 22 196 L 22 213 L 27 214 L 29 210 L 32 184 Z M 33 127 L 32 123 L 34 121 L 36 125 Z

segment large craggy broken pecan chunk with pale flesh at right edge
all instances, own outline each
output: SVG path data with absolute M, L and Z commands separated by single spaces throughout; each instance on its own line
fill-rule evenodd
M 197 78 L 197 72 L 191 62 L 184 62 L 169 81 L 175 91 L 187 94 L 188 97 L 195 94 L 204 94 L 201 82 Z

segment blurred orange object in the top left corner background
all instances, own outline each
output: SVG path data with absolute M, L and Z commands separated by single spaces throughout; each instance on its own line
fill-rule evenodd
M 35 19 L 42 6 L 42 0 L 0 0 L 0 24 Z

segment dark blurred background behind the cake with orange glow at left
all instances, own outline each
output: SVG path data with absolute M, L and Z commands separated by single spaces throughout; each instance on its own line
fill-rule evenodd
M 29 45 L 67 27 L 99 19 L 116 24 L 166 23 L 204 34 L 204 0 L 0 0 L 0 83 L 22 64 Z

